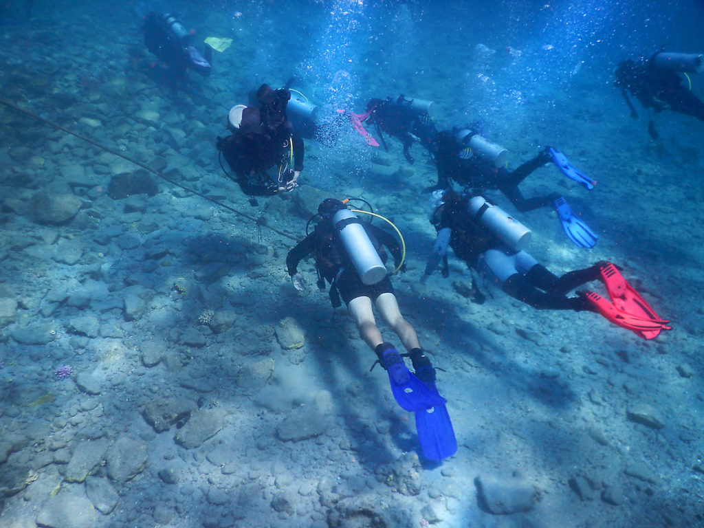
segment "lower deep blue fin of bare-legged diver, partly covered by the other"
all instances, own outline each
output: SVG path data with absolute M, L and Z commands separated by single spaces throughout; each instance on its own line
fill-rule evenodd
M 423 379 L 435 394 L 439 395 L 432 365 L 420 367 L 416 372 L 418 377 Z M 415 429 L 418 432 L 418 441 L 423 456 L 428 460 L 444 460 L 457 453 L 455 430 L 444 403 L 430 409 L 417 411 L 415 413 Z

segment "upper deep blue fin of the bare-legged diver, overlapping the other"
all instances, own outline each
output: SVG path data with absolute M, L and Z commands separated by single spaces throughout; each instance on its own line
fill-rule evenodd
M 403 363 L 403 358 L 395 348 L 386 348 L 382 352 L 382 356 L 386 372 L 389 374 L 391 392 L 401 408 L 415 413 L 447 403 L 445 398 L 429 389 L 420 379 L 415 377 L 413 372 L 408 370 L 406 363 Z

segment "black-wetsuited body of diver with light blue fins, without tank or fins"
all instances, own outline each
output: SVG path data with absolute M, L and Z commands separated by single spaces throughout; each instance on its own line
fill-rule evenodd
M 469 153 L 470 149 L 458 142 L 460 132 L 463 130 L 453 128 L 436 135 L 434 160 L 438 170 L 438 182 L 425 189 L 426 191 L 447 189 L 451 181 L 465 189 L 471 189 L 473 194 L 480 194 L 486 189 L 498 189 L 520 211 L 552 205 L 559 198 L 557 193 L 525 198 L 518 189 L 518 184 L 534 170 L 552 161 L 550 147 L 546 147 L 535 158 L 515 170 L 508 170 L 505 167 L 496 167 L 490 158 Z M 469 134 L 473 132 L 470 131 Z

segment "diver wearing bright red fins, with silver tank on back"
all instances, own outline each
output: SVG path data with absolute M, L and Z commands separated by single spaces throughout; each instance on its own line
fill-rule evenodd
M 653 339 L 662 329 L 670 329 L 648 303 L 622 277 L 619 268 L 598 262 L 561 277 L 553 274 L 523 251 L 531 233 L 520 222 L 482 196 L 435 191 L 431 223 L 437 231 L 432 255 L 420 282 L 425 284 L 443 263 L 442 275 L 448 276 L 447 249 L 501 287 L 505 293 L 537 310 L 587 310 L 600 313 L 615 325 L 627 328 L 643 339 Z M 600 279 L 611 302 L 593 291 L 573 289 Z

